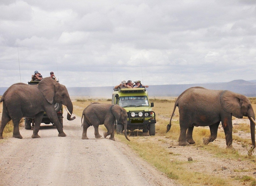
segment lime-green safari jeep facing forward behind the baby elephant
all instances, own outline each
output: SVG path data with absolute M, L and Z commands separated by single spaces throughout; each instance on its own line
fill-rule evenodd
M 156 134 L 156 114 L 152 111 L 154 103 L 149 102 L 148 91 L 145 88 L 114 89 L 112 104 L 117 104 L 126 109 L 128 114 L 127 130 L 142 129 L 150 136 Z M 122 133 L 124 126 L 116 123 L 116 132 Z

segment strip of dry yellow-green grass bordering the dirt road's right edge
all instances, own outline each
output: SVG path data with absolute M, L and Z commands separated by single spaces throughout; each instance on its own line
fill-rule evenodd
M 130 142 L 124 138 L 123 135 L 117 135 L 117 138 L 126 143 L 138 155 L 156 167 L 159 171 L 165 173 L 169 178 L 177 180 L 183 185 L 232 185 L 232 181 L 229 179 L 222 179 L 218 176 L 209 176 L 204 173 L 192 172 L 186 168 L 187 163 L 174 160 L 175 155 L 170 153 L 166 148 L 159 146 L 157 143 L 150 142 L 148 140 L 142 142 L 138 141 L 138 138 L 134 137 Z

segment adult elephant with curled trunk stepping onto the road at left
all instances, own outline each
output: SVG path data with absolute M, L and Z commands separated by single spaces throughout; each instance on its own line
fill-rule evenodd
M 3 102 L 0 139 L 3 139 L 4 127 L 10 120 L 13 120 L 14 123 L 13 137 L 21 139 L 19 121 L 23 117 L 35 117 L 32 138 L 40 138 L 38 131 L 44 112 L 56 125 L 58 136 L 66 136 L 54 109 L 55 103 L 66 105 L 68 108 L 67 119 L 75 119 L 75 117 L 71 118 L 73 105 L 67 88 L 50 77 L 43 78 L 38 85 L 13 84 L 3 94 L 0 102 Z

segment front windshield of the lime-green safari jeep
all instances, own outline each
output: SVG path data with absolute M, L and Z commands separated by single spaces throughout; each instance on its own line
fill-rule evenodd
M 147 96 L 122 96 L 119 97 L 121 107 L 149 107 Z

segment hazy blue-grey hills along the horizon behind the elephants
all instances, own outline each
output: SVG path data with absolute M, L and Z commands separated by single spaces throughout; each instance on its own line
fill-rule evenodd
M 256 97 L 256 80 L 234 80 L 226 83 L 203 83 L 203 84 L 183 84 L 183 85 L 150 85 L 147 88 L 150 97 L 177 97 L 190 87 L 204 87 L 212 90 L 229 90 L 243 94 L 247 97 Z M 0 88 L 2 95 L 8 87 Z M 69 87 L 70 96 L 87 96 L 111 98 L 113 87 Z

